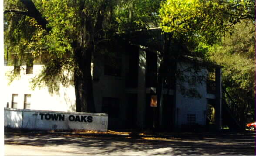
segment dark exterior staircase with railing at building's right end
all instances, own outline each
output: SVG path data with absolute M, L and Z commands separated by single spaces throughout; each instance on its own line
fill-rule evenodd
M 239 124 L 239 107 L 225 88 L 222 89 L 222 125 L 230 130 L 244 130 Z

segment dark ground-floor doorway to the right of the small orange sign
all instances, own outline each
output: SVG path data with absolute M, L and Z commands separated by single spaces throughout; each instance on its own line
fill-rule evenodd
M 173 95 L 163 95 L 162 107 L 162 128 L 164 130 L 172 130 L 174 122 L 174 97 Z

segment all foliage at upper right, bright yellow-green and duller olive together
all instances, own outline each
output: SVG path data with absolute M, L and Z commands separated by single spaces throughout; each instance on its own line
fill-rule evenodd
M 253 0 L 166 0 L 161 4 L 159 16 L 162 30 L 183 40 L 190 55 L 223 65 L 223 83 L 229 92 L 240 103 L 252 104 L 255 86 Z

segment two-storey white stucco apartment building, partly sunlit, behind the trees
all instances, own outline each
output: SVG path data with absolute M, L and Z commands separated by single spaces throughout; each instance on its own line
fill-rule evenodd
M 109 64 L 108 56 L 95 54 L 92 64 L 94 103 L 96 113 L 108 113 L 108 125 L 118 128 L 139 127 L 152 128 L 154 122 L 154 109 L 151 100 L 156 95 L 157 72 L 160 65 L 159 53 L 142 46 L 129 46 L 123 48 L 112 58 L 116 65 Z M 183 70 L 187 67 L 200 69 L 200 75 L 208 73 L 204 62 L 184 57 L 177 60 L 172 71 Z M 29 68 L 29 69 L 27 69 Z M 32 68 L 32 69 L 31 69 Z M 6 107 L 33 109 L 76 111 L 75 91 L 71 81 L 68 87 L 60 87 L 60 91 L 50 94 L 47 87 L 30 88 L 30 80 L 38 72 L 42 65 L 26 65 L 20 68 L 20 78 L 3 86 L 4 101 Z M 213 102 L 216 107 L 216 125 L 221 126 L 221 66 L 212 65 L 215 68 L 216 80 L 213 86 L 214 92 L 207 90 L 206 81 L 183 82 L 185 88 L 195 88 L 201 95 L 200 98 L 189 97 L 182 94 L 178 78 L 172 74 L 166 77 L 160 102 L 160 126 L 165 129 L 180 129 L 186 125 L 205 125 L 208 104 Z M 13 66 L 4 66 L 4 71 L 12 71 Z M 184 71 L 184 75 L 192 76 L 192 71 Z M 201 73 L 201 74 L 200 74 Z

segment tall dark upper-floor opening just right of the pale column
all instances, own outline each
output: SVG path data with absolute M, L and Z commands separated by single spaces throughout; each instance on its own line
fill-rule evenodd
M 157 78 L 157 54 L 154 52 L 146 53 L 146 86 L 156 87 Z

